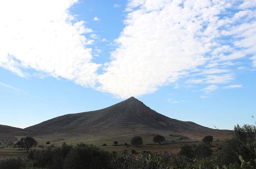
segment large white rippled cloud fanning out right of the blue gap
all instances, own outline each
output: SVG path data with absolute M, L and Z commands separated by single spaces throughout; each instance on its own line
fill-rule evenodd
M 232 66 L 226 60 L 233 64 L 255 52 L 255 40 L 250 38 L 256 35 L 255 11 L 227 13 L 238 7 L 228 0 L 181 3 L 128 1 L 126 26 L 115 40 L 118 48 L 111 53 L 106 72 L 98 77 L 98 90 L 124 98 L 152 93 L 189 77 L 187 71 L 199 66 L 206 66 L 197 73 L 205 77 L 194 78 L 194 83 L 228 83 L 235 78 L 232 69 L 222 67 Z

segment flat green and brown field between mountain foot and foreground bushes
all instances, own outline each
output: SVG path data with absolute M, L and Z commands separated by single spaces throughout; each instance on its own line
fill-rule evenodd
M 137 152 L 140 151 L 151 151 L 157 153 L 169 152 L 173 154 L 177 154 L 180 148 L 185 144 L 199 144 L 201 139 L 206 135 L 213 135 L 214 141 L 212 143 L 213 146 L 219 147 L 223 144 L 223 140 L 228 137 L 232 137 L 230 131 L 221 131 L 216 133 L 194 133 L 194 132 L 186 132 L 186 133 L 157 133 L 165 136 L 167 141 L 170 141 L 168 145 L 156 145 L 153 143 L 152 138 L 154 135 L 153 133 L 127 133 L 122 135 L 112 135 L 112 136 L 96 136 L 96 135 L 85 135 L 85 134 L 49 134 L 49 135 L 40 135 L 40 136 L 33 136 L 38 145 L 44 146 L 60 146 L 63 142 L 67 144 L 76 145 L 77 143 L 83 142 L 86 144 L 93 144 L 95 146 L 99 146 L 100 149 L 106 151 L 116 151 L 116 152 L 125 152 L 131 151 L 132 149 L 136 150 Z M 171 136 L 170 136 L 171 135 Z M 135 147 L 135 146 L 112 146 L 114 141 L 117 141 L 118 144 L 130 144 L 130 140 L 134 136 L 141 136 L 143 138 L 143 146 Z M 20 139 L 24 136 L 16 136 L 17 139 Z M 184 138 L 185 139 L 180 139 Z M 173 141 L 172 141 L 173 140 Z M 46 142 L 50 141 L 50 145 L 46 145 Z M 108 146 L 102 146 L 103 144 L 107 144 Z M 36 148 L 40 149 L 40 148 Z M 14 156 L 26 156 L 26 153 L 18 148 L 1 148 L 0 149 L 0 158 L 5 157 L 14 157 Z

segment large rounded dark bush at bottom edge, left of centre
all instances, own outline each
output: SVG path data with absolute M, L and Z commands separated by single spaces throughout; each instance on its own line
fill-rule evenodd
M 95 146 L 78 144 L 67 155 L 64 169 L 107 169 L 110 168 L 112 155 Z

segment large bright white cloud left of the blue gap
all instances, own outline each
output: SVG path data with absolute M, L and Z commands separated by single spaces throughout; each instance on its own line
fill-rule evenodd
M 84 35 L 92 30 L 74 22 L 67 10 L 74 2 L 1 1 L 0 66 L 22 77 L 34 69 L 94 86 L 100 65 L 91 62 L 92 40 Z

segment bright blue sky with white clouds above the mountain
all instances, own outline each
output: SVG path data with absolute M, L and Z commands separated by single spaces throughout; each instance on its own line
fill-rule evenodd
M 254 123 L 255 1 L 0 3 L 2 125 L 131 96 L 206 127 Z

